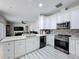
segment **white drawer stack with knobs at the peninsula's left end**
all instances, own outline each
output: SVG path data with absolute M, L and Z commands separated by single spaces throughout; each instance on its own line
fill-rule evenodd
M 4 59 L 14 59 L 14 42 L 3 43 Z

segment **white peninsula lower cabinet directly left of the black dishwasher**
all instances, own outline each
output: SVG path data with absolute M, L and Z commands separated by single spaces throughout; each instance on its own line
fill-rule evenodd
M 26 53 L 32 52 L 39 48 L 39 37 L 28 37 L 26 39 Z

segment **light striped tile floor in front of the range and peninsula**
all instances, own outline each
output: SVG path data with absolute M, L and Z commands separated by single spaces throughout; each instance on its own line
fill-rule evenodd
M 46 46 L 42 49 L 29 53 L 19 59 L 79 59 L 71 54 L 65 54 L 59 50 L 54 49 L 51 46 Z

